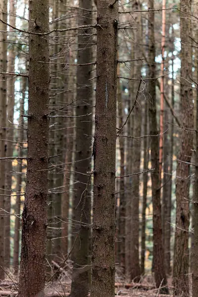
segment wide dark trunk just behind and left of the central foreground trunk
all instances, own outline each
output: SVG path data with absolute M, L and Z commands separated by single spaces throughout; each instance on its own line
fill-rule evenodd
M 85 10 L 81 11 L 79 16 L 79 26 L 90 25 L 92 23 L 92 0 L 80 0 L 79 7 Z M 90 11 L 88 13 L 88 11 Z M 90 29 L 85 30 L 85 33 L 90 33 Z M 90 63 L 92 60 L 92 48 L 89 45 L 90 36 L 78 36 L 78 64 Z M 80 225 L 76 225 L 74 237 L 78 233 L 78 239 L 72 252 L 72 260 L 74 261 L 71 297 L 86 297 L 89 293 L 89 274 L 90 267 L 90 227 L 85 224 L 91 222 L 91 196 L 89 192 L 90 178 L 86 175 L 91 171 L 91 155 L 92 145 L 92 81 L 91 79 L 92 66 L 86 65 L 79 67 L 77 71 L 77 102 L 76 102 L 76 145 L 75 145 L 75 172 L 83 174 L 75 174 L 75 180 L 78 183 L 74 185 L 74 204 L 73 218 L 80 221 Z M 81 117 L 86 115 L 85 118 Z M 82 161 L 80 161 L 82 160 Z M 85 224 L 82 224 L 85 223 Z

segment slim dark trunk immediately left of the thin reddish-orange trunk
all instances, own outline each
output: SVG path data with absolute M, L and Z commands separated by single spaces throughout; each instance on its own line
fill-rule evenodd
M 148 1 L 148 7 L 154 8 L 153 0 Z M 154 12 L 148 14 L 149 28 L 149 44 L 148 44 L 148 62 L 149 62 L 149 77 L 155 77 L 155 41 L 154 41 Z M 156 118 L 156 94 L 155 82 L 149 81 L 149 125 L 150 135 L 157 135 L 157 118 Z M 158 137 L 150 138 L 151 149 L 151 172 L 152 182 L 152 207 L 153 207 L 153 264 L 154 277 L 156 287 L 166 285 L 166 274 L 164 269 L 164 251 L 162 247 L 162 229 L 161 229 L 161 203 L 160 203 L 160 180 L 159 180 L 159 139 Z M 165 287 L 160 290 L 167 293 Z

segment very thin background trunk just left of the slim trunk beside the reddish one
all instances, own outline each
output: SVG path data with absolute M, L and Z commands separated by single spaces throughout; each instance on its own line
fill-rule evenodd
M 148 135 L 148 99 L 145 101 L 144 135 Z M 144 138 L 144 171 L 148 170 L 148 137 Z M 142 209 L 142 234 L 141 234 L 141 274 L 145 274 L 146 251 L 146 209 L 147 209 L 147 183 L 148 173 L 143 175 L 143 209 Z

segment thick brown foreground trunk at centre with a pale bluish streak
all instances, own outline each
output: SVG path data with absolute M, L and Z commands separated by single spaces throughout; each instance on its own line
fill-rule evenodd
M 97 1 L 97 97 L 91 297 L 115 295 L 115 147 L 118 3 Z M 101 287 L 102 284 L 102 287 Z

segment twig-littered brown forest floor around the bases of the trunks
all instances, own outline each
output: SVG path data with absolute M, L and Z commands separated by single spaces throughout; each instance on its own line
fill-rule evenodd
M 127 282 L 116 274 L 115 296 L 120 297 L 167 297 L 160 294 L 160 290 L 155 288 L 153 277 L 148 275 L 139 283 Z M 173 296 L 171 279 L 168 280 L 169 296 Z M 58 279 L 46 283 L 45 297 L 67 297 L 71 288 L 71 275 L 61 272 Z M 18 277 L 11 272 L 6 274 L 6 279 L 0 282 L 0 297 L 17 297 Z

